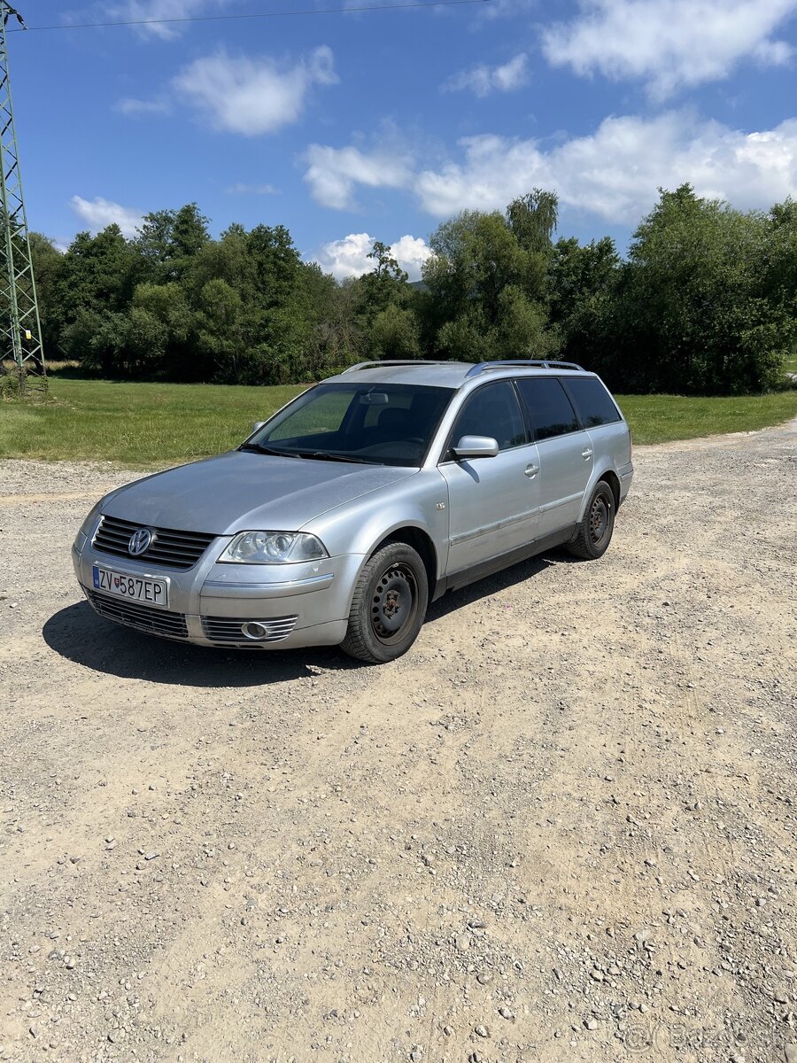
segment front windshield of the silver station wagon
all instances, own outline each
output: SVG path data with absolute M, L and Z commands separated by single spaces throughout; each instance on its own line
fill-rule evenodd
M 244 450 L 332 461 L 420 466 L 452 388 L 319 384 L 259 428 Z

